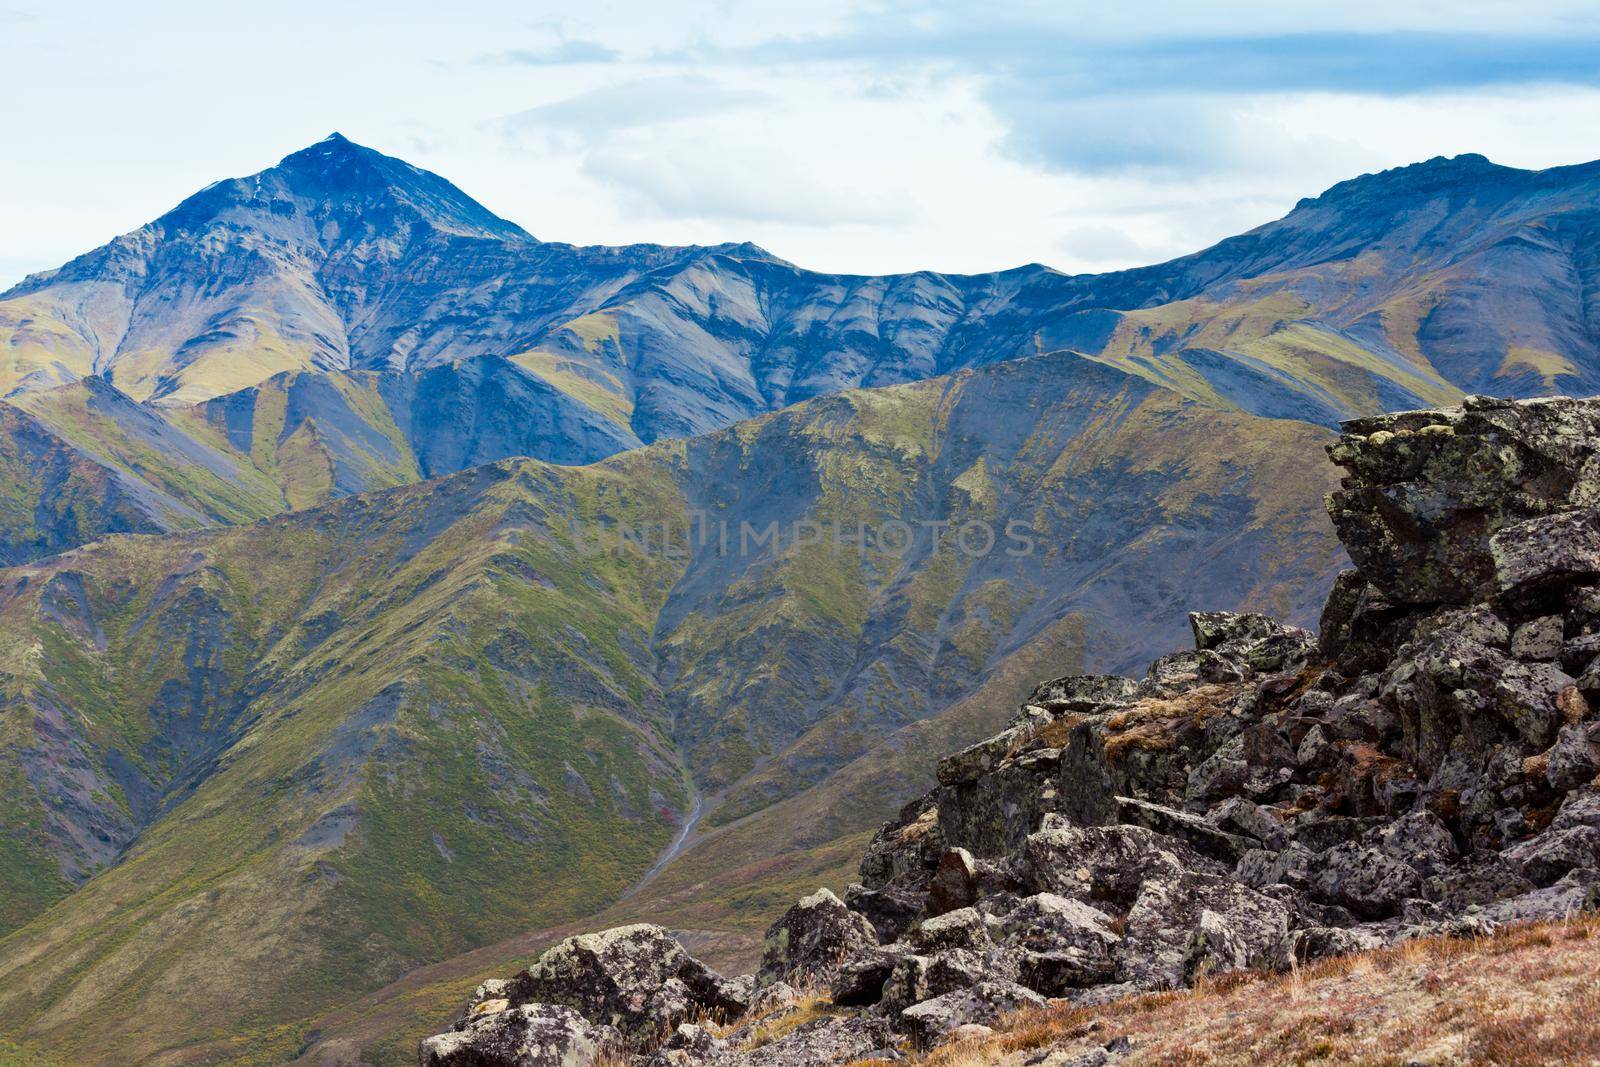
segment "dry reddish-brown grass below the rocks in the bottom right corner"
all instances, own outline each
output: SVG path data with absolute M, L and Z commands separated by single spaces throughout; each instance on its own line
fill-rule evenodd
M 1414 941 L 1286 974 L 1229 973 L 1101 1008 L 1056 1006 L 920 1067 L 1022 1064 L 1115 1038 L 1125 1064 L 1600 1064 L 1600 917 Z M 1066 1059 L 1070 1059 L 1067 1056 Z

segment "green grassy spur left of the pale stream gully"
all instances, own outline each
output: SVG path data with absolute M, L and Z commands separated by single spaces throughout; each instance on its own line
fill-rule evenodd
M 670 509 L 638 475 L 622 464 L 566 493 L 568 472 L 512 464 L 461 478 L 458 499 L 422 486 L 30 569 L 32 589 L 82 574 L 90 617 L 62 627 L 13 597 L 5 669 L 35 707 L 125 709 L 86 731 L 91 752 L 149 752 L 147 697 L 106 686 L 160 688 L 176 673 L 163 656 L 192 659 L 176 613 L 227 633 L 237 685 L 259 694 L 192 793 L 5 942 L 8 1029 L 50 1032 L 70 1057 L 224 1035 L 216 1056 L 282 1057 L 299 1037 L 280 1021 L 635 880 L 686 800 L 624 648 L 669 582 L 643 561 L 579 573 L 528 501 Z M 131 595 L 130 571 L 149 577 Z M 330 613 L 341 625 L 312 648 Z M 27 633 L 51 654 L 30 657 Z

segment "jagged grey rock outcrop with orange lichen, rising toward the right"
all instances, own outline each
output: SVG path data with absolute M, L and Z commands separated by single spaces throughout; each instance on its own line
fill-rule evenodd
M 1144 678 L 1048 681 L 941 761 L 843 899 L 773 925 L 757 974 L 656 926 L 586 934 L 480 987 L 421 1062 L 899 1059 L 1051 1000 L 1594 907 L 1600 402 L 1344 430 L 1328 509 L 1357 568 L 1320 637 L 1194 613 Z

